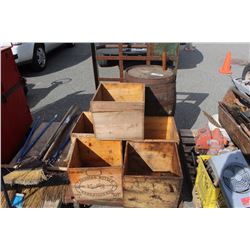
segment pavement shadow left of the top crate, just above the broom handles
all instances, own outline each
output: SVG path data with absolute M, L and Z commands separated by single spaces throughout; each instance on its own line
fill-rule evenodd
M 83 92 L 84 91 L 77 91 L 40 109 L 34 110 L 32 116 L 34 119 L 40 116 L 44 122 L 48 122 L 57 114 L 58 117 L 56 121 L 59 122 L 72 105 L 77 105 L 81 111 L 87 111 L 89 110 L 89 103 L 93 94 L 84 94 Z

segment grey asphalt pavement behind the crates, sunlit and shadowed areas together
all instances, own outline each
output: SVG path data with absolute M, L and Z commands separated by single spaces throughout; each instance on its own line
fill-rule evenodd
M 250 59 L 249 44 L 193 43 L 194 51 L 181 46 L 177 73 L 177 105 L 175 119 L 178 128 L 199 128 L 207 123 L 202 110 L 217 113 L 218 101 L 232 86 L 229 76 L 218 72 L 227 51 L 231 51 L 232 77 L 240 77 L 244 62 Z M 47 68 L 34 73 L 22 66 L 28 83 L 28 104 L 33 116 L 48 121 L 58 114 L 58 121 L 72 104 L 89 109 L 95 91 L 90 45 L 62 46 L 49 54 Z M 99 68 L 100 75 L 118 76 L 118 66 Z

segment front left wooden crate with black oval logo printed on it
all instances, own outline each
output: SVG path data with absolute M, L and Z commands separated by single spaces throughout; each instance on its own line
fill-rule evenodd
M 75 138 L 68 175 L 76 201 L 94 204 L 121 199 L 122 162 L 121 141 Z

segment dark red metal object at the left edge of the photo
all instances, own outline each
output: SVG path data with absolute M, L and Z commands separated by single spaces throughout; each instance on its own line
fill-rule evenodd
M 11 48 L 1 48 L 1 163 L 12 160 L 32 123 L 21 81 Z

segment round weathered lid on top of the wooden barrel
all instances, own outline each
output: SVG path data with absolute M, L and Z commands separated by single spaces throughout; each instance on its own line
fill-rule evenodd
M 164 79 L 174 75 L 172 69 L 162 70 L 159 65 L 138 65 L 132 66 L 126 70 L 126 73 L 135 78 L 140 79 Z

